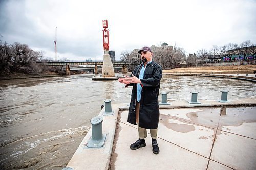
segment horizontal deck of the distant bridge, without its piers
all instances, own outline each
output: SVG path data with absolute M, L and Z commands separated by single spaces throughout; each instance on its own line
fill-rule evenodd
M 61 66 L 61 65 L 103 65 L 103 61 L 37 61 L 36 63 L 45 63 L 51 66 Z M 131 64 L 130 61 L 113 61 L 113 65 L 127 65 Z

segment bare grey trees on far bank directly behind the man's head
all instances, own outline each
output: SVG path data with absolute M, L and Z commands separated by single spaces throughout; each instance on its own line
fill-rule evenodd
M 186 60 L 185 50 L 177 46 L 168 46 L 163 43 L 158 46 L 150 47 L 153 52 L 153 60 L 157 62 L 163 69 L 174 69 L 179 67 L 180 63 Z M 121 61 L 130 61 L 127 66 L 128 71 L 132 71 L 136 65 L 141 64 L 140 54 L 138 49 L 132 51 L 121 52 Z

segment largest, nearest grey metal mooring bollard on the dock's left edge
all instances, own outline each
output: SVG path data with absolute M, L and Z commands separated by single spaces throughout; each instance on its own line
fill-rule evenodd
M 103 117 L 97 116 L 91 119 L 92 137 L 87 143 L 87 147 L 103 147 L 106 134 L 102 135 Z

